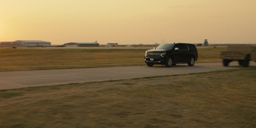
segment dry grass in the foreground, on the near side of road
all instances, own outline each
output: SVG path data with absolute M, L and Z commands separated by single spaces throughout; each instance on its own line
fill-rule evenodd
M 0 91 L 1 128 L 253 128 L 256 68 Z

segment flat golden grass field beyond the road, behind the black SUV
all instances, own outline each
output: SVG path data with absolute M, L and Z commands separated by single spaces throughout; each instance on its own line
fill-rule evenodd
M 0 49 L 0 71 L 97 68 L 146 65 L 147 49 Z M 226 48 L 198 49 L 196 63 L 221 62 Z

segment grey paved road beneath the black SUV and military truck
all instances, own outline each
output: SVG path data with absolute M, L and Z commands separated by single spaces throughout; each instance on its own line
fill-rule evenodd
M 256 67 L 256 63 L 250 61 L 249 66 Z M 148 67 L 145 64 L 145 66 L 130 67 L 9 71 L 0 72 L 0 90 L 149 76 L 200 73 L 238 68 L 243 68 L 243 66 L 240 66 L 238 62 L 231 62 L 228 67 L 224 67 L 222 63 L 196 63 L 192 67 L 187 64 L 177 64 L 170 68 L 166 68 L 163 65 Z

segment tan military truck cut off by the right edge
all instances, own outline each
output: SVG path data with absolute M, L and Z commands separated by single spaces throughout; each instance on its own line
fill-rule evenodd
M 221 59 L 226 67 L 232 61 L 238 61 L 239 65 L 248 67 L 249 61 L 256 62 L 256 45 L 229 45 L 227 51 L 221 51 Z

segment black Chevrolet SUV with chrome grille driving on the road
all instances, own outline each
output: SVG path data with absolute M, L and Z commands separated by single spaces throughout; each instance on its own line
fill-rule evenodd
M 177 63 L 187 63 L 189 66 L 193 66 L 197 59 L 196 46 L 187 43 L 164 43 L 145 53 L 147 66 L 161 64 L 165 67 L 171 67 Z

